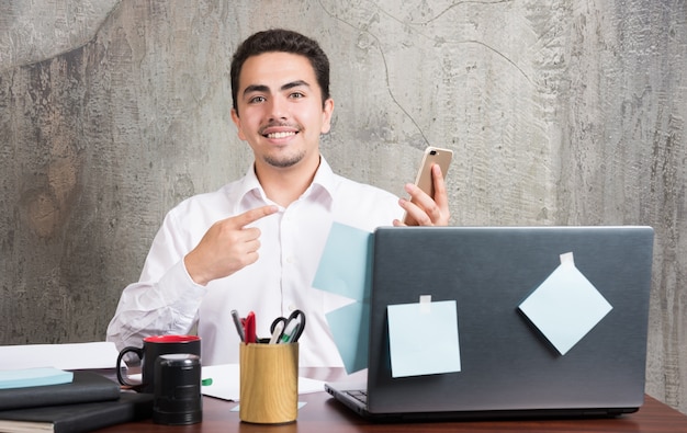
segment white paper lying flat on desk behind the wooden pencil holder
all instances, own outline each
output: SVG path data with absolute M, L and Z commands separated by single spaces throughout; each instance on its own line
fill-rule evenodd
M 240 372 L 238 364 L 207 365 L 202 367 L 202 379 L 212 379 L 212 385 L 202 386 L 203 395 L 223 400 L 238 401 L 240 396 Z M 299 377 L 299 395 L 325 390 L 322 380 Z

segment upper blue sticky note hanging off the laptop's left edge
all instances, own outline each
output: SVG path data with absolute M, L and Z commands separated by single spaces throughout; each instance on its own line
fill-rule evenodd
M 369 298 L 371 241 L 371 232 L 334 223 L 313 287 L 360 301 Z

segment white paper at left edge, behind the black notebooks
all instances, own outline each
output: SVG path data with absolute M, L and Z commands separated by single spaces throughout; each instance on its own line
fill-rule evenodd
M 0 346 L 0 369 L 55 367 L 59 369 L 116 368 L 112 342 L 21 344 Z

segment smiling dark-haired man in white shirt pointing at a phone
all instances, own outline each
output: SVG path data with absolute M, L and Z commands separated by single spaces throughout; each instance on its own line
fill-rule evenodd
M 404 212 L 423 225 L 447 225 L 441 171 L 435 200 L 415 185 L 415 203 L 333 173 L 319 153 L 334 101 L 329 64 L 316 42 L 272 30 L 246 39 L 232 61 L 232 118 L 255 162 L 217 192 L 191 197 L 166 216 L 138 283 L 127 286 L 108 328 L 119 349 L 150 334 L 198 326 L 204 365 L 238 362 L 230 310 L 254 310 L 260 337 L 279 316 L 301 309 L 307 326 L 302 366 L 340 366 L 325 314 L 341 304 L 311 285 L 333 223 L 368 231 L 402 226 Z

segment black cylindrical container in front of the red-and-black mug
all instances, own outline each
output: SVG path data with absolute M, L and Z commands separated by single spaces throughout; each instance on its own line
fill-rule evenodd
M 160 355 L 155 361 L 153 422 L 195 424 L 203 419 L 201 360 L 189 353 Z

